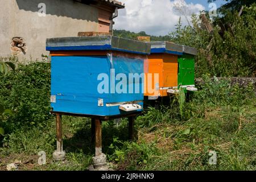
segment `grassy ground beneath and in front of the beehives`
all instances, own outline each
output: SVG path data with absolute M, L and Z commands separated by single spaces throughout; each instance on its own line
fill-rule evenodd
M 202 118 L 173 120 L 151 127 L 139 126 L 144 115 L 137 119 L 138 139 L 134 142 L 127 142 L 125 119 L 119 126 L 105 122 L 104 152 L 118 170 L 255 170 L 255 105 L 251 103 L 240 109 L 242 113 L 230 106 L 216 107 L 206 110 Z M 90 148 L 90 121 L 65 116 L 63 129 L 67 152 L 64 163 L 52 161 L 55 150 L 52 119 L 45 130 L 34 127 L 10 134 L 7 147 L 0 149 L 0 169 L 21 160 L 20 170 L 85 170 L 92 163 L 94 152 Z M 47 154 L 45 166 L 37 164 L 37 154 L 42 150 Z M 216 166 L 208 164 L 210 150 L 217 152 Z

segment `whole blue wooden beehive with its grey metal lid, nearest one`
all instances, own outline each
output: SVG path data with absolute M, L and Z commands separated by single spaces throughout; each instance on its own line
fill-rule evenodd
M 114 36 L 52 38 L 47 51 L 52 111 L 113 116 L 142 110 L 141 73 L 150 44 Z M 129 73 L 142 77 L 129 80 Z M 136 109 L 127 109 L 131 105 Z

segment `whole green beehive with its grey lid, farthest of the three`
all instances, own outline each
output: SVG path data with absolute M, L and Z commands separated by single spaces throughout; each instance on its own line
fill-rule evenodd
M 184 90 L 197 91 L 195 88 L 195 56 L 197 49 L 183 46 L 183 55 L 179 56 L 178 85 Z

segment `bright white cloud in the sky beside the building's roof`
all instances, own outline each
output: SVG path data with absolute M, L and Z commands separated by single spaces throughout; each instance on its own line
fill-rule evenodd
M 197 14 L 205 9 L 203 5 L 187 4 L 184 0 L 119 1 L 125 3 L 125 9 L 118 11 L 118 18 L 114 19 L 114 28 L 134 32 L 146 31 L 151 35 L 167 35 L 174 30 L 180 16 L 183 24 L 187 24 L 185 15 L 190 19 L 192 13 Z M 176 8 L 180 3 L 181 11 Z

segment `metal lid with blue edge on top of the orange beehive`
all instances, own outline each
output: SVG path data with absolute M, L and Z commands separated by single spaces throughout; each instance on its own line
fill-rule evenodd
M 174 55 L 183 54 L 183 46 L 171 42 L 150 42 L 151 53 L 170 53 Z

